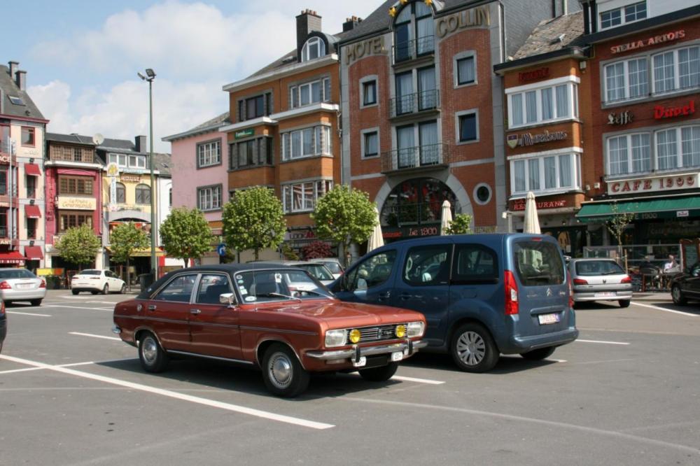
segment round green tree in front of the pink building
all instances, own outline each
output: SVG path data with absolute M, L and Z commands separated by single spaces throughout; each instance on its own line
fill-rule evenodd
M 185 261 L 185 267 L 211 250 L 209 223 L 198 209 L 173 209 L 160 225 L 160 239 L 165 252 Z

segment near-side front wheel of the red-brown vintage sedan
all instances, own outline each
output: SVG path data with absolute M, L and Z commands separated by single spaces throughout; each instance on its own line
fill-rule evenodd
M 262 380 L 279 397 L 295 397 L 309 385 L 309 373 L 288 346 L 273 344 L 262 358 Z

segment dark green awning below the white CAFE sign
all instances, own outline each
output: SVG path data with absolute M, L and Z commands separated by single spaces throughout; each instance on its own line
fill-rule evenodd
M 654 220 L 657 218 L 694 218 L 700 217 L 700 195 L 689 197 L 669 197 L 624 202 L 596 202 L 583 204 L 576 218 L 585 223 L 607 222 L 614 215 L 613 205 L 617 204 L 618 213 L 632 212 L 634 220 Z

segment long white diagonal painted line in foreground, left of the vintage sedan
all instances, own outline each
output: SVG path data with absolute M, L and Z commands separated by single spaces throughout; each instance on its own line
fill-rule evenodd
M 41 369 L 49 369 L 55 372 L 60 372 L 62 374 L 68 374 L 72 376 L 83 377 L 83 379 L 90 379 L 94 381 L 111 383 L 112 385 L 122 386 L 126 388 L 132 388 L 133 390 L 141 390 L 146 393 L 153 393 L 155 395 L 162 395 L 169 398 L 174 398 L 175 400 L 182 400 L 191 403 L 203 404 L 204 406 L 209 406 L 212 408 L 224 409 L 226 411 L 233 411 L 240 414 L 247 414 L 248 416 L 255 416 L 258 418 L 269 419 L 270 421 L 278 421 L 281 423 L 288 423 L 293 425 L 300 425 L 302 427 L 311 429 L 330 429 L 334 428 L 335 425 L 318 423 L 316 421 L 308 421 L 307 419 L 294 418 L 291 416 L 284 416 L 283 414 L 271 413 L 269 411 L 261 411 L 260 409 L 253 409 L 244 406 L 239 406 L 237 404 L 230 404 L 219 402 L 216 400 L 209 400 L 208 398 L 195 397 L 193 395 L 185 395 L 184 393 L 177 393 L 172 390 L 164 390 L 162 388 L 156 388 L 144 385 L 142 383 L 127 382 L 120 379 L 113 379 L 112 377 L 101 376 L 97 374 L 90 374 L 89 372 L 76 371 L 75 369 L 69 369 L 68 367 L 59 367 L 49 364 L 44 364 L 43 362 L 30 361 L 27 359 L 13 358 L 12 356 L 0 355 L 0 359 L 18 362 L 20 364 L 25 364 L 29 366 L 38 367 Z

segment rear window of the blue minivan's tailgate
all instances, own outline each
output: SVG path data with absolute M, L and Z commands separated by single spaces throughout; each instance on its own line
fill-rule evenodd
M 524 286 L 561 285 L 564 264 L 559 246 L 549 241 L 519 241 L 513 246 L 515 271 Z

